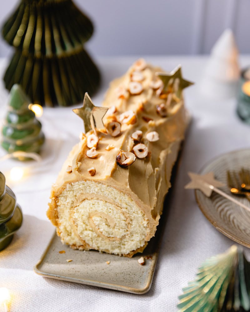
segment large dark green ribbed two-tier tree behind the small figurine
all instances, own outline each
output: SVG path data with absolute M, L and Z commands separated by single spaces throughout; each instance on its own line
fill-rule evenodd
M 100 75 L 83 49 L 92 22 L 72 0 L 21 0 L 2 28 L 15 47 L 4 76 L 6 88 L 18 83 L 32 103 L 68 106 L 97 90 Z

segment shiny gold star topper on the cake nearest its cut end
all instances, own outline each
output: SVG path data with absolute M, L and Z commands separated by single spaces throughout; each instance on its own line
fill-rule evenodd
M 88 95 L 88 92 L 84 95 L 83 107 L 73 109 L 73 112 L 83 119 L 85 133 L 95 128 L 104 128 L 103 117 L 107 113 L 107 107 L 95 106 Z

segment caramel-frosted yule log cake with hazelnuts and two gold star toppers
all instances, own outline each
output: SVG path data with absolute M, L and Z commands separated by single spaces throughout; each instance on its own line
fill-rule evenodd
M 111 82 L 102 108 L 85 95 L 74 111 L 88 132 L 63 164 L 47 211 L 63 243 L 128 257 L 144 250 L 184 138 L 188 85 L 180 66 L 163 73 L 140 59 Z

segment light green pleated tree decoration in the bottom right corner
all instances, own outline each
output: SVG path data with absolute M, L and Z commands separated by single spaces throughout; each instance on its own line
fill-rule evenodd
M 250 264 L 242 248 L 233 245 L 207 259 L 179 300 L 182 312 L 249 311 Z

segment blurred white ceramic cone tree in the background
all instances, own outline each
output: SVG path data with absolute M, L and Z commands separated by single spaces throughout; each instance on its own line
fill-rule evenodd
M 200 90 L 213 98 L 230 98 L 236 95 L 239 76 L 238 49 L 232 30 L 226 29 L 211 50 Z

